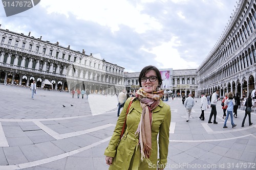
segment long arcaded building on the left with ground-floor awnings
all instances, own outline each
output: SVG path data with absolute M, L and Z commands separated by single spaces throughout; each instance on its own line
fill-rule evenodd
M 30 34 L 0 29 L 0 83 L 104 94 L 124 87 L 123 67 Z

